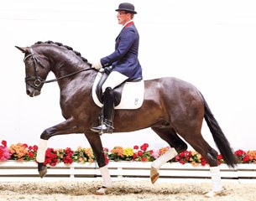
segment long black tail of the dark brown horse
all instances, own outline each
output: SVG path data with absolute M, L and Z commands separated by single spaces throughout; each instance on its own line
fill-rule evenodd
M 212 111 L 210 110 L 208 104 L 206 103 L 205 98 L 201 95 L 204 101 L 205 107 L 205 120 L 207 126 L 209 127 L 210 131 L 212 132 L 212 137 L 214 142 L 216 143 L 219 151 L 222 154 L 223 159 L 227 163 L 228 167 L 235 168 L 236 164 L 238 163 L 237 158 L 234 156 L 232 148 L 230 147 L 227 138 L 225 137 L 224 133 L 222 132 L 222 128 L 218 125 L 216 119 L 214 118 Z

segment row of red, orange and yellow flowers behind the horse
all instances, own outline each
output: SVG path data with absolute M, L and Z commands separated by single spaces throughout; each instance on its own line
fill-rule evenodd
M 159 156 L 168 151 L 170 147 L 162 147 L 160 149 L 149 150 L 149 144 L 144 143 L 142 146 L 134 147 L 113 147 L 111 150 L 103 148 L 106 161 L 136 161 L 136 162 L 153 162 Z M 0 146 L 0 161 L 35 161 L 38 146 L 28 146 L 24 143 L 12 144 L 7 146 L 6 141 L 2 141 Z M 238 159 L 238 163 L 256 163 L 256 151 L 245 152 L 238 150 L 234 152 Z M 56 166 L 57 163 L 64 162 L 71 164 L 73 162 L 86 163 L 95 162 L 95 157 L 91 148 L 78 147 L 76 150 L 48 148 L 45 152 L 45 165 Z M 206 160 L 198 152 L 185 151 L 176 156 L 172 162 L 180 162 L 181 164 L 191 163 L 192 165 L 206 165 Z M 225 163 L 222 155 L 218 155 L 218 162 Z

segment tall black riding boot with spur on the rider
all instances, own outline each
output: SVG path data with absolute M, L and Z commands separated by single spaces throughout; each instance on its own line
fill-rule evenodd
M 102 125 L 92 127 L 91 131 L 112 133 L 114 119 L 114 94 L 111 87 L 107 87 L 103 95 L 103 118 Z

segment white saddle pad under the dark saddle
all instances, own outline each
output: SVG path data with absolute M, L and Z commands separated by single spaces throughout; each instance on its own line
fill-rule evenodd
M 98 73 L 94 84 L 92 86 L 92 98 L 97 106 L 102 107 L 102 103 L 98 100 L 96 95 L 96 87 L 99 80 L 102 77 L 102 73 Z M 123 92 L 120 104 L 115 106 L 115 109 L 138 109 L 142 106 L 144 101 L 144 80 L 138 82 L 126 82 L 123 86 Z

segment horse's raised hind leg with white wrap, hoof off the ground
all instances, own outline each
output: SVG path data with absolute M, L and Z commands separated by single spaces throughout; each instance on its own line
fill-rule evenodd
M 165 163 L 174 158 L 178 153 L 184 152 L 187 149 L 187 145 L 184 141 L 180 139 L 180 137 L 176 134 L 175 130 L 165 126 L 154 126 L 152 130 L 155 131 L 159 137 L 161 137 L 165 142 L 170 145 L 170 150 L 165 152 L 162 156 L 156 159 L 152 165 L 150 170 L 150 178 L 151 182 L 155 183 L 159 178 L 158 170 Z

